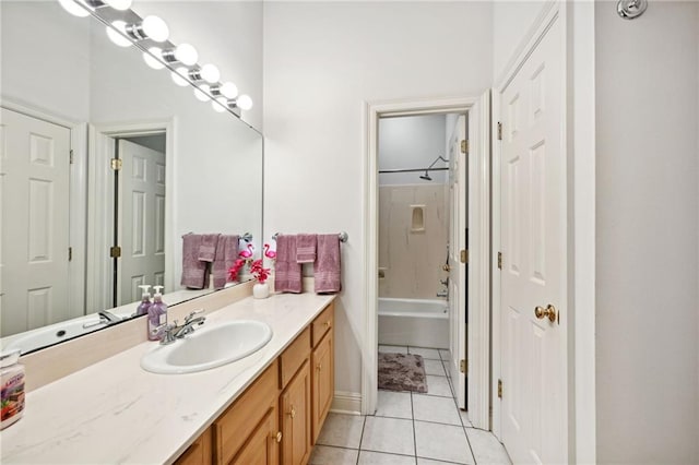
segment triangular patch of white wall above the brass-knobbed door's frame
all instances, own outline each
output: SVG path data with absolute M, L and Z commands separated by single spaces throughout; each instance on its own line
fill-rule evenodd
M 546 1 L 493 2 L 493 78 L 499 80 Z M 496 84 L 498 82 L 496 81 Z

